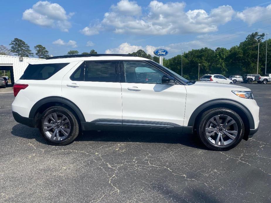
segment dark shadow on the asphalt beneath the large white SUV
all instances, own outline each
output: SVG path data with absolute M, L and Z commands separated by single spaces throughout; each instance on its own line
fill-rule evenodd
M 13 126 L 11 134 L 26 139 L 35 139 L 42 144 L 50 144 L 40 135 L 38 128 L 30 128 L 23 124 Z M 78 135 L 78 137 L 75 139 L 75 142 L 82 141 L 168 143 L 182 144 L 198 149 L 206 149 L 196 136 L 178 133 L 87 131 Z

